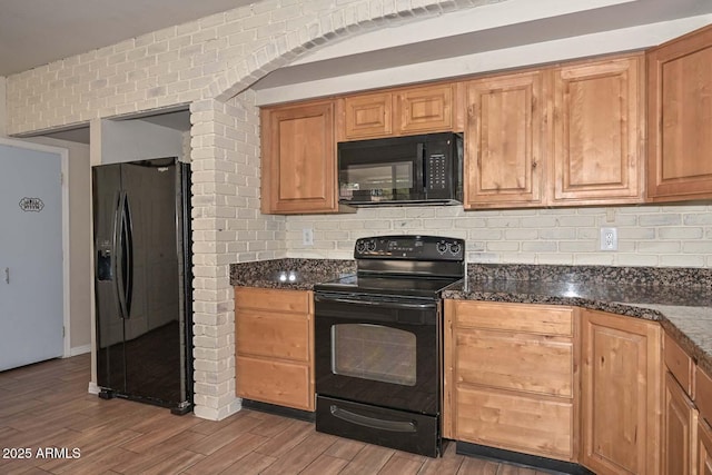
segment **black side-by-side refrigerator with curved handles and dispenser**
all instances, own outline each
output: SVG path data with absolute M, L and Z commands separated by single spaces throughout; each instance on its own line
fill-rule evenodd
M 97 384 L 192 410 L 190 168 L 157 158 L 92 168 Z

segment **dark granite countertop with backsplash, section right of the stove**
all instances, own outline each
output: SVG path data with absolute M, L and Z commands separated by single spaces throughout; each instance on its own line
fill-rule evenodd
M 469 265 L 444 298 L 566 305 L 660 321 L 712 374 L 712 270 Z

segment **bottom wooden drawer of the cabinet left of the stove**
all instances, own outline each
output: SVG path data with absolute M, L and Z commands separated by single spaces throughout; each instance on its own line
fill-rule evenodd
M 247 399 L 314 410 L 306 364 L 237 357 L 237 395 Z

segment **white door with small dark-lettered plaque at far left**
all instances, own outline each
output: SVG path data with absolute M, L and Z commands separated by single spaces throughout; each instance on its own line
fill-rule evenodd
M 0 142 L 0 370 L 63 355 L 61 162 Z

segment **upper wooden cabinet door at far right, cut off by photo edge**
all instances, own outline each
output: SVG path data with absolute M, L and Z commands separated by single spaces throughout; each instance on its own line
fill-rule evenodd
M 647 52 L 647 196 L 712 198 L 712 26 Z

